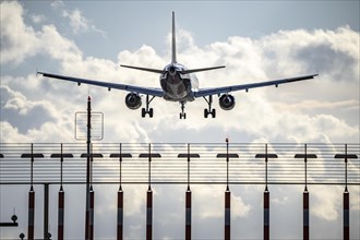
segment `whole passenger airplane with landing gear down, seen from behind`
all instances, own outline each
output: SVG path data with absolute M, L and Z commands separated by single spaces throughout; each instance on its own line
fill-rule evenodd
M 120 64 L 122 68 L 134 69 L 140 71 L 147 71 L 152 73 L 159 74 L 160 87 L 141 87 L 128 84 L 119 84 L 111 82 L 100 82 L 88 79 L 79 79 L 73 76 L 59 75 L 47 72 L 38 72 L 45 77 L 58 79 L 63 81 L 75 82 L 80 86 L 81 84 L 91 84 L 101 87 L 107 87 L 110 89 L 125 91 L 129 94 L 125 96 L 125 105 L 129 109 L 135 110 L 142 106 L 142 95 L 146 95 L 145 108 L 142 108 L 142 117 L 145 118 L 146 115 L 153 118 L 154 110 L 149 108 L 149 104 L 155 97 L 161 97 L 168 101 L 178 101 L 181 105 L 180 119 L 185 119 L 187 113 L 184 111 L 185 104 L 188 101 L 193 101 L 196 98 L 204 98 L 207 103 L 207 108 L 204 109 L 204 118 L 209 115 L 215 118 L 216 109 L 212 107 L 213 96 L 218 95 L 219 106 L 224 110 L 231 110 L 235 107 L 235 97 L 231 95 L 232 92 L 245 91 L 249 92 L 251 88 L 264 87 L 275 85 L 276 87 L 280 84 L 292 83 L 297 81 L 304 81 L 314 79 L 317 74 L 302 75 L 290 79 L 273 80 L 267 82 L 241 84 L 241 85 L 230 85 L 223 87 L 211 87 L 211 88 L 199 88 L 199 80 L 194 73 L 202 71 L 211 71 L 216 69 L 223 69 L 225 65 L 202 68 L 202 69 L 188 69 L 183 64 L 177 61 L 177 50 L 176 50 L 176 26 L 175 26 L 175 12 L 172 12 L 172 29 L 171 29 L 171 62 L 167 64 L 164 69 L 149 69 L 143 67 L 125 65 Z

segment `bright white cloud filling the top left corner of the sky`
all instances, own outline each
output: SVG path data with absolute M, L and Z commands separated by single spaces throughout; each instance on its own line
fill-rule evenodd
M 62 37 L 53 25 L 43 25 L 40 32 L 24 23 L 24 11 L 16 1 L 1 2 L 1 64 L 20 64 L 36 55 L 73 62 L 81 51 L 72 40 Z

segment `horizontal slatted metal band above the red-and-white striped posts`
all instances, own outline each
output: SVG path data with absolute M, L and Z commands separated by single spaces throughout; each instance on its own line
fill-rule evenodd
M 360 184 L 360 144 L 97 143 L 93 184 Z M 0 184 L 84 184 L 86 144 L 1 143 Z

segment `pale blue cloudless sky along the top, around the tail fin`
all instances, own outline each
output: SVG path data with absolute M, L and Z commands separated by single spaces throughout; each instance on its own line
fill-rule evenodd
M 349 25 L 359 32 L 360 22 L 359 1 L 67 1 L 67 8 L 81 10 L 89 25 L 89 29 L 79 28 L 74 34 L 63 20 L 64 4 L 22 4 L 31 11 L 25 20 L 38 15 L 44 16 L 43 24 L 60 23 L 57 28 L 81 46 L 85 56 L 110 60 L 116 60 L 121 50 L 135 50 L 144 44 L 159 53 L 167 52 L 171 11 L 177 14 L 178 26 L 190 32 L 200 47 L 229 36 L 259 38 L 286 29 Z M 41 26 L 32 25 L 34 29 Z

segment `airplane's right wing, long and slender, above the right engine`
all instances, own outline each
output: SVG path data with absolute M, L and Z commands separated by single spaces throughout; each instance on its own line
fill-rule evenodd
M 277 87 L 280 84 L 310 80 L 310 79 L 314 79 L 314 76 L 317 76 L 317 74 L 303 75 L 303 76 L 297 76 L 297 77 L 284 79 L 284 80 L 274 80 L 274 81 L 260 82 L 260 83 L 242 84 L 242 85 L 203 88 L 203 89 L 199 89 L 197 92 L 195 92 L 194 96 L 195 97 L 205 97 L 205 96 L 209 96 L 209 95 L 228 94 L 230 92 L 236 92 L 236 91 L 247 91 L 248 92 L 251 88 L 272 86 L 272 85 L 275 85 Z

